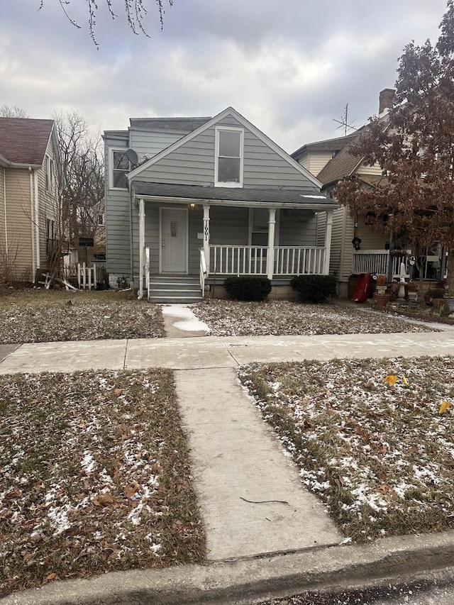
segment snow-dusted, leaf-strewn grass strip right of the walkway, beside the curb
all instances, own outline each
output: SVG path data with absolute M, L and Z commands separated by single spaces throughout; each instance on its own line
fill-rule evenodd
M 253 364 L 239 374 L 347 540 L 453 528 L 454 357 Z

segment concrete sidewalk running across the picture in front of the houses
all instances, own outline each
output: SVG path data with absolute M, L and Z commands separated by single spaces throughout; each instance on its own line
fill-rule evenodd
M 0 345 L 0 359 L 2 347 Z M 28 343 L 0 362 L 0 374 L 167 367 L 237 367 L 250 362 L 454 354 L 454 332 L 321 336 L 204 336 Z

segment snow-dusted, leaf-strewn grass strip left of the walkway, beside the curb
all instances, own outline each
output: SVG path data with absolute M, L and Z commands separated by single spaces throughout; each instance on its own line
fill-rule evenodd
M 204 562 L 168 370 L 0 377 L 0 596 Z

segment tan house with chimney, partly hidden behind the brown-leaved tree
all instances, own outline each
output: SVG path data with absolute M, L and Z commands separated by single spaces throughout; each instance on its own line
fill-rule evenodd
M 386 119 L 389 108 L 394 101 L 394 90 L 384 89 L 380 92 L 379 117 Z M 322 192 L 333 198 L 333 189 L 343 177 L 355 174 L 365 187 L 380 187 L 382 174 L 379 165 L 368 166 L 364 158 L 350 154 L 349 145 L 367 128 L 364 126 L 355 133 L 341 138 L 310 143 L 292 153 L 294 160 L 313 170 L 314 176 L 322 184 Z M 409 253 L 394 248 L 389 233 L 373 230 L 368 224 L 367 209 L 365 213 L 351 216 L 348 207 L 338 206 L 333 213 L 331 240 L 330 273 L 338 279 L 338 291 L 341 296 L 353 294 L 348 292 L 350 276 L 360 273 L 386 274 L 390 279 L 399 279 L 404 262 L 404 277 L 411 275 Z M 440 246 L 426 250 L 424 259 L 424 279 L 438 282 L 444 274 L 445 254 Z M 350 290 L 351 290 L 350 280 Z M 354 283 L 354 279 L 353 279 Z

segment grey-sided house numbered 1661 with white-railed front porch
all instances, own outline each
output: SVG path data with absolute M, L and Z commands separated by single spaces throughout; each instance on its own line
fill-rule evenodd
M 195 301 L 223 296 L 228 276 L 265 276 L 284 297 L 294 275 L 328 274 L 336 202 L 235 109 L 131 118 L 104 144 L 111 285 Z

